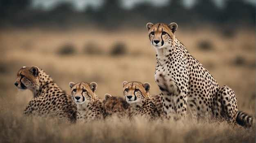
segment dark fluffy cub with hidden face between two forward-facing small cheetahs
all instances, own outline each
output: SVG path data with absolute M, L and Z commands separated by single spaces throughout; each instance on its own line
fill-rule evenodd
M 104 109 L 106 117 L 128 117 L 130 113 L 130 104 L 128 104 L 124 98 L 105 94 Z

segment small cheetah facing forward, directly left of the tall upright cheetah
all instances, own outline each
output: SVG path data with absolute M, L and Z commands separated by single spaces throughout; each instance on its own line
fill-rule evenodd
M 124 97 L 130 104 L 130 117 L 137 115 L 147 119 L 161 118 L 163 114 L 160 95 L 150 95 L 150 84 L 145 82 L 123 82 Z

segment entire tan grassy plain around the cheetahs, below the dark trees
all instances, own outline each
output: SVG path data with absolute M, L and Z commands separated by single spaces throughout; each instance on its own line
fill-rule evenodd
M 146 25 L 146 24 L 145 24 Z M 255 28 L 234 31 L 213 26 L 175 32 L 192 56 L 236 93 L 238 110 L 255 118 Z M 123 81 L 154 80 L 155 48 L 148 31 L 6 28 L 0 30 L 0 143 L 255 143 L 252 128 L 227 122 L 193 123 L 190 111 L 180 121 L 111 118 L 71 124 L 65 120 L 22 115 L 31 91 L 14 85 L 22 66 L 43 69 L 68 94 L 69 82 L 97 82 L 96 94 L 123 97 Z

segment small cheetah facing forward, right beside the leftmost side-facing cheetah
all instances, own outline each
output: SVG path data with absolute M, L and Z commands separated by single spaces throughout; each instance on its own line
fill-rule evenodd
M 104 119 L 103 100 L 95 94 L 96 82 L 70 82 L 69 86 L 73 100 L 77 104 L 77 121 Z

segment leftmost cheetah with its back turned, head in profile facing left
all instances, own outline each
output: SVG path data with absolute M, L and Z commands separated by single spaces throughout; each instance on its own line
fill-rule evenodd
M 76 104 L 70 95 L 36 66 L 22 67 L 17 73 L 16 87 L 34 94 L 24 111 L 25 115 L 50 115 L 76 121 Z

